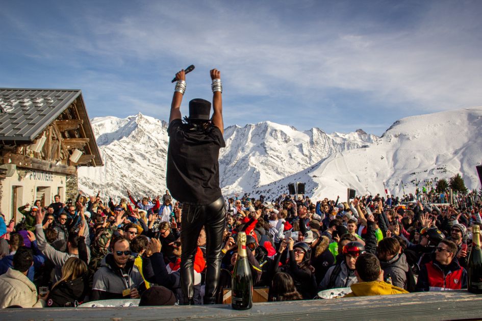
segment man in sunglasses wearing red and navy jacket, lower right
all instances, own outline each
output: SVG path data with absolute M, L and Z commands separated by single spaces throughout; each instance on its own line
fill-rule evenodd
M 460 266 L 456 257 L 457 246 L 448 239 L 442 239 L 435 247 L 432 261 L 420 267 L 417 291 L 445 291 L 467 288 L 467 271 Z

